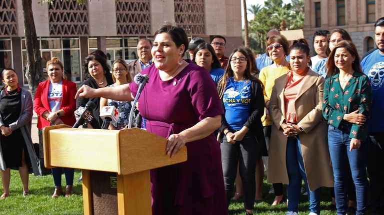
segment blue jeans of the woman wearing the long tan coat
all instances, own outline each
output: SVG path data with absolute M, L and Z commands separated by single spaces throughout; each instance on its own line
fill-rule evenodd
M 308 208 L 310 212 L 320 214 L 321 188 L 317 188 L 313 192 L 309 190 L 302 160 L 300 140 L 296 137 L 288 137 L 286 143 L 286 170 L 289 178 L 289 185 L 286 187 L 288 212 L 298 212 L 301 180 L 304 180 L 305 189 L 308 192 Z

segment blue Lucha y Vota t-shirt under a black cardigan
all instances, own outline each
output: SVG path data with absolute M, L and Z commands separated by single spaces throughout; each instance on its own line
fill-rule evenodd
M 249 117 L 251 81 L 235 81 L 228 78 L 222 101 L 225 108 L 225 120 L 228 129 L 240 130 Z

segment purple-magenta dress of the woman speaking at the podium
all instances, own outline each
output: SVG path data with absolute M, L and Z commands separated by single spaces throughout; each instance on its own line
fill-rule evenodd
M 138 99 L 146 130 L 167 138 L 205 117 L 223 114 L 209 73 L 189 63 L 176 77 L 162 81 L 152 64 Z M 133 96 L 138 85 L 129 86 Z M 151 171 L 153 215 L 227 215 L 220 147 L 213 134 L 189 142 L 186 162 Z M 165 151 L 165 148 L 164 148 Z

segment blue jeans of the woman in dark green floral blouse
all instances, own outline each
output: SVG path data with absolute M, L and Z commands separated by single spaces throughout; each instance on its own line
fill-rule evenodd
M 364 159 L 366 142 L 361 142 L 360 148 L 353 149 L 351 152 L 349 152 L 349 143 L 348 129 L 339 130 L 331 125 L 328 126 L 328 147 L 332 161 L 337 215 L 345 215 L 346 213 L 347 168 L 349 167 L 356 188 L 356 215 L 364 215 L 368 197 L 368 180 Z

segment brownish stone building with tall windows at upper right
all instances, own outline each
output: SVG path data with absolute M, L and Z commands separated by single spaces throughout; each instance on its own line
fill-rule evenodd
M 375 47 L 374 22 L 384 16 L 383 0 L 304 0 L 304 38 L 313 44 L 316 30 L 343 28 L 352 37 L 358 53 Z M 312 48 L 312 54 L 314 51 Z

